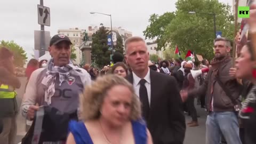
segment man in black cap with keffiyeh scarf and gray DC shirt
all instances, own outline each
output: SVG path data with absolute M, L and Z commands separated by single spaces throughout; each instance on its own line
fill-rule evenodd
M 50 106 L 61 113 L 76 115 L 79 94 L 91 84 L 89 73 L 70 61 L 71 41 L 65 35 L 54 35 L 49 52 L 52 59 L 46 68 L 35 70 L 29 79 L 22 101 L 22 115 L 34 119 L 36 106 Z

